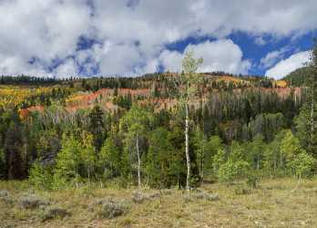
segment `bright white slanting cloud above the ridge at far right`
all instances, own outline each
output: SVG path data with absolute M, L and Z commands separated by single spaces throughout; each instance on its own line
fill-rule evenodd
M 266 71 L 265 75 L 269 78 L 281 79 L 294 71 L 295 69 L 302 67 L 304 63 L 309 61 L 310 52 L 302 51 L 281 60 L 274 67 L 271 67 Z

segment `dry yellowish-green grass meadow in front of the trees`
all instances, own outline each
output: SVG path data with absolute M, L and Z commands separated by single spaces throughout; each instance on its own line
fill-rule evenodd
M 133 200 L 134 188 L 33 192 L 27 182 L 0 181 L 0 190 L 14 201 L 7 204 L 0 198 L 0 227 L 317 227 L 317 179 L 298 186 L 293 179 L 263 180 L 257 189 L 213 183 L 189 194 L 145 189 L 141 202 Z M 30 191 L 51 205 L 21 207 L 20 197 Z M 128 209 L 118 217 L 98 216 L 105 199 L 125 202 Z M 66 216 L 44 220 L 51 207 L 61 208 Z

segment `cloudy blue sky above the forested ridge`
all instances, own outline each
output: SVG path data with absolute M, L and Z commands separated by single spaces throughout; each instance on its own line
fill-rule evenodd
M 309 60 L 316 0 L 0 0 L 0 75 L 181 70 L 282 78 Z

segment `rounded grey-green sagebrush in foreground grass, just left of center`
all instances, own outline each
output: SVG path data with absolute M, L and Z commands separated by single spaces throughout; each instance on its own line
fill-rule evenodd
M 104 201 L 101 209 L 97 212 L 98 217 L 104 219 L 113 219 L 128 212 L 128 204 L 126 202 L 118 202 L 112 199 Z

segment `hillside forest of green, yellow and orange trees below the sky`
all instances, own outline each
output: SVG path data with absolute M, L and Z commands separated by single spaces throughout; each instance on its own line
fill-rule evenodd
M 282 80 L 196 73 L 0 80 L 0 178 L 45 191 L 311 179 L 317 48 Z M 295 78 L 295 79 L 294 79 Z

